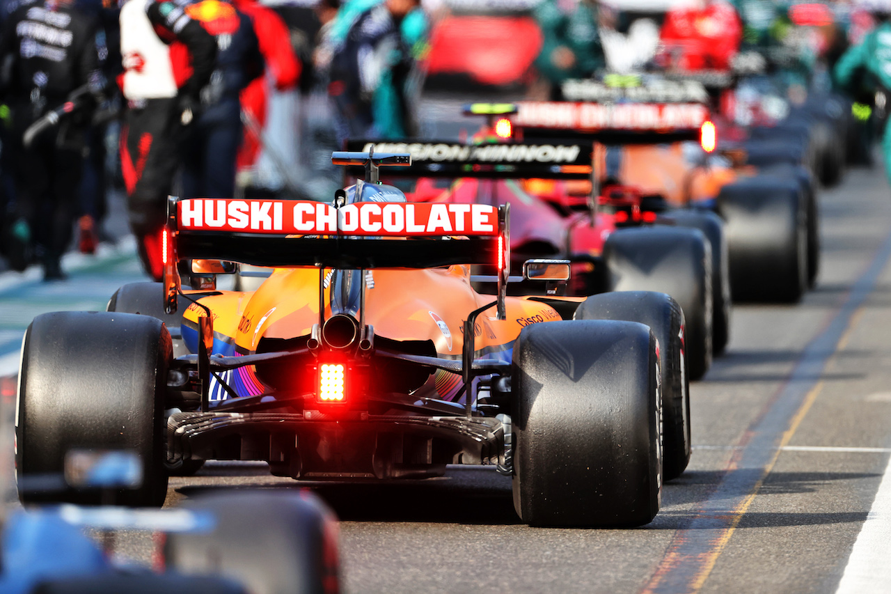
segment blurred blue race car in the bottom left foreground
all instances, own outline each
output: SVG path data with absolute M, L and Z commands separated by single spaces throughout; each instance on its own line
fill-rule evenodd
M 4 412 L 3 406 L 0 412 Z M 0 439 L 11 446 L 12 414 L 3 417 Z M 0 454 L 3 494 L 3 483 L 12 478 L 12 447 L 7 451 Z M 165 510 L 110 505 L 119 493 L 140 487 L 142 462 L 132 450 L 71 448 L 60 473 L 20 475 L 17 486 L 21 493 L 52 499 L 67 491 L 64 499 L 103 505 L 29 505 L 7 514 L 4 501 L 0 507 L 0 591 L 339 591 L 337 523 L 312 493 L 241 490 L 199 494 L 190 496 L 184 507 Z M 125 557 L 118 547 L 117 532 L 152 534 L 152 566 L 137 565 Z

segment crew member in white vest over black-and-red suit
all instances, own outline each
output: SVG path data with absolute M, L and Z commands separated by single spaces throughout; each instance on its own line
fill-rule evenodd
M 186 13 L 188 0 L 127 0 L 120 10 L 127 100 L 121 169 L 130 227 L 146 271 L 161 277 L 160 231 L 183 154 L 184 127 L 197 117 L 201 88 L 214 70 L 217 42 Z

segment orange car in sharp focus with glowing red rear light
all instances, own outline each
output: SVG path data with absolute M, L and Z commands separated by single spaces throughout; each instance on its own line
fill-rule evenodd
M 377 181 L 407 154 L 333 161 L 367 172 L 332 203 L 171 198 L 163 284 L 35 318 L 20 475 L 57 472 L 74 443 L 136 450 L 151 464 L 119 499 L 159 505 L 170 473 L 206 459 L 313 480 L 485 464 L 528 524 L 649 523 L 691 453 L 677 303 L 560 297 L 566 260 L 527 261 L 547 290 L 507 296 L 509 207 L 406 202 Z M 186 260 L 207 288 L 181 288 Z M 211 288 L 233 260 L 274 272 L 256 292 Z M 491 262 L 494 296 L 469 266 Z

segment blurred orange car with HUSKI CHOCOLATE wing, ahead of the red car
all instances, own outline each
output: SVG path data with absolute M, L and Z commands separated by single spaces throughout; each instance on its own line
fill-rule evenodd
M 713 210 L 723 219 L 734 300 L 798 301 L 819 267 L 810 173 L 792 163 L 732 169 L 695 146 L 696 158 L 688 158 L 680 142 L 698 139 L 700 130 L 708 133 L 703 148 L 714 151 L 719 142 L 705 87 L 694 79 L 625 78 L 619 82 L 630 87 L 569 80 L 563 93 L 571 101 L 519 102 L 509 116 L 513 128 L 526 140 L 569 135 L 611 145 L 619 183 L 660 194 L 667 208 Z M 734 154 L 745 161 L 744 151 Z

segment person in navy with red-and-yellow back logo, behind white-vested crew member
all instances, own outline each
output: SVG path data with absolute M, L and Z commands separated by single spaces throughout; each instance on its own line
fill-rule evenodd
M 249 16 L 233 4 L 201 0 L 187 4 L 184 10 L 216 37 L 217 61 L 184 139 L 182 194 L 231 197 L 243 136 L 241 91 L 263 75 L 263 54 Z

